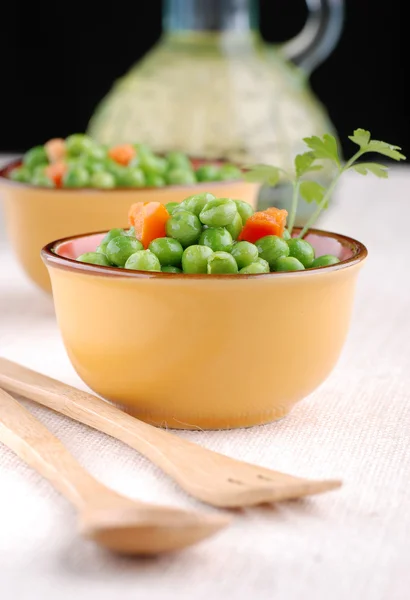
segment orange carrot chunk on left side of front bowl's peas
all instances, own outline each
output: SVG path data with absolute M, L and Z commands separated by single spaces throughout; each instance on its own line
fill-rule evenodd
M 137 202 L 128 213 L 130 225 L 135 229 L 135 237 L 144 248 L 148 248 L 152 240 L 166 237 L 165 225 L 170 215 L 160 202 Z

